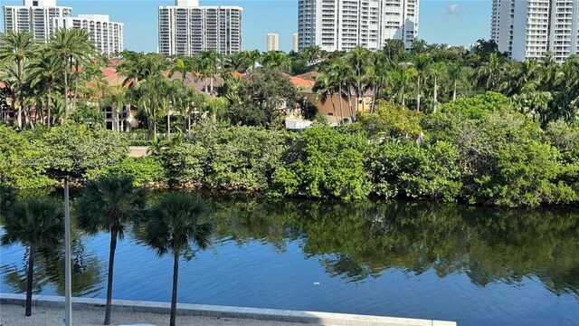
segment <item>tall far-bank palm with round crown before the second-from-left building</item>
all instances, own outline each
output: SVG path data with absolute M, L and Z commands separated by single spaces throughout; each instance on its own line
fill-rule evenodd
M 69 117 L 69 71 L 72 65 L 77 67 L 82 62 L 90 59 L 95 53 L 94 43 L 90 41 L 89 32 L 81 29 L 58 29 L 52 34 L 51 42 L 48 43 L 49 55 L 55 56 L 62 61 L 64 72 L 64 116 Z M 78 72 L 78 68 L 77 68 Z M 77 76 L 78 74 L 75 74 Z

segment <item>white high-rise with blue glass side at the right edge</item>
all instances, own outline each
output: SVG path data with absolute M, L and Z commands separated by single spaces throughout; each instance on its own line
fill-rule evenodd
M 493 0 L 490 38 L 513 60 L 578 53 L 578 0 Z

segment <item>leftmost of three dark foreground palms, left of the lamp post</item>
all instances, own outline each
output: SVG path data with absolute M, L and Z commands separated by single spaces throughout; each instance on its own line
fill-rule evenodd
M 30 197 L 17 202 L 5 216 L 2 245 L 28 247 L 25 316 L 32 314 L 34 256 L 43 246 L 57 245 L 64 234 L 64 213 L 53 199 Z

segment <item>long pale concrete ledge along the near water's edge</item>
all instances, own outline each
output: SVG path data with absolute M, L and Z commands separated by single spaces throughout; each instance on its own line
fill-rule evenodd
M 22 305 L 26 302 L 24 294 L 0 293 L 0 304 Z M 72 308 L 84 310 L 104 310 L 104 299 L 72 298 Z M 143 302 L 113 300 L 113 310 L 119 312 L 150 312 L 167 314 L 169 302 Z M 33 306 L 46 308 L 63 308 L 64 297 L 50 295 L 33 295 Z M 454 321 L 431 321 L 410 318 L 394 318 L 369 315 L 356 315 L 331 312 L 299 312 L 279 309 L 261 309 L 245 307 L 215 306 L 205 304 L 177 303 L 178 315 L 242 318 L 261 321 L 289 321 L 300 323 L 321 323 L 339 326 L 456 326 Z

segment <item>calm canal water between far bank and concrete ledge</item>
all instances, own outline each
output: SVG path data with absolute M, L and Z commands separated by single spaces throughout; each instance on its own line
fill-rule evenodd
M 576 209 L 210 200 L 214 247 L 183 259 L 179 302 L 460 326 L 579 322 Z M 73 243 L 73 294 L 104 298 L 109 235 L 75 232 Z M 62 255 L 37 259 L 35 292 L 62 294 Z M 1 292 L 24 292 L 26 260 L 23 247 L 2 248 Z M 131 232 L 117 247 L 113 297 L 168 302 L 172 268 Z

